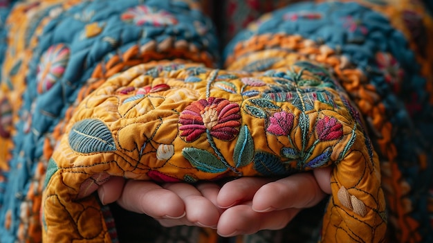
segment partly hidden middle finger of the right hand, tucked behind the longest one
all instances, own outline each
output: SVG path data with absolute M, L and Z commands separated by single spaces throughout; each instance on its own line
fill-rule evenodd
M 225 183 L 216 199 L 220 208 L 230 208 L 243 201 L 250 201 L 255 192 L 264 184 L 272 181 L 268 178 L 242 177 Z

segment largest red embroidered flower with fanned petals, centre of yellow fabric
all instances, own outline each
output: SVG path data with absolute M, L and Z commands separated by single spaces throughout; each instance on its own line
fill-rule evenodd
M 208 130 L 215 138 L 231 140 L 239 134 L 240 110 L 239 105 L 224 98 L 211 97 L 192 102 L 179 117 L 181 136 L 192 142 Z

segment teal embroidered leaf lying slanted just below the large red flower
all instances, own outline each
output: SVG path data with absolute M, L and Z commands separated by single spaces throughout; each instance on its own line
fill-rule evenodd
M 182 155 L 190 161 L 191 165 L 198 170 L 210 173 L 219 173 L 227 170 L 223 162 L 206 150 L 199 150 L 195 147 L 185 147 Z

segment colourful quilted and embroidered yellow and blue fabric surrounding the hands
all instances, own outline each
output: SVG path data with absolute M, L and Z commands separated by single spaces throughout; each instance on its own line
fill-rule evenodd
M 95 191 L 326 166 L 326 201 L 232 240 L 433 241 L 431 4 L 218 2 L 0 1 L 0 242 L 219 242 Z

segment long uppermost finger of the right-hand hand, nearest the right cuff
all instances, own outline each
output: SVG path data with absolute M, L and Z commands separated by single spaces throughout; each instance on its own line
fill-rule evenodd
M 309 208 L 324 196 L 312 173 L 293 174 L 257 190 L 252 208 L 261 213 L 285 208 Z

